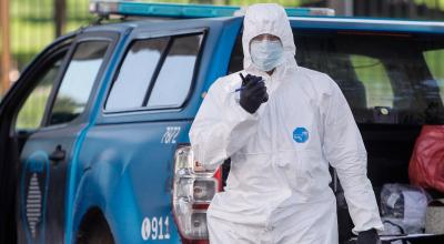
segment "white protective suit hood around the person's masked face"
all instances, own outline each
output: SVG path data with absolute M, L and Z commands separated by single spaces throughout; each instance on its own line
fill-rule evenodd
M 276 35 L 284 47 L 285 62 L 281 67 L 295 68 L 296 47 L 285 10 L 275 3 L 259 3 L 246 9 L 243 20 L 242 47 L 244 53 L 243 68 L 255 69 L 250 55 L 250 41 L 263 33 Z

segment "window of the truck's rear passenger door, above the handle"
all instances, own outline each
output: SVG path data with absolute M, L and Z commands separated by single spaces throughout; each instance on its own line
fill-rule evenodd
M 78 44 L 56 96 L 49 124 L 70 122 L 83 112 L 108 45 L 105 41 Z

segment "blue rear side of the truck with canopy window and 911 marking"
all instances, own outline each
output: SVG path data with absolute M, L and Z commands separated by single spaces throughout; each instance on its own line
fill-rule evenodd
M 82 146 L 79 162 L 89 169 L 81 180 L 87 190 L 79 185 L 84 193 L 77 195 L 81 204 L 74 203 L 81 213 L 99 206 L 110 220 L 115 243 L 191 243 L 206 237 L 203 210 L 190 212 L 179 225 L 174 222 L 174 155 L 189 143 L 205 81 L 226 72 L 226 53 L 241 19 L 226 26 L 176 21 L 141 24 L 131 32 L 101 102 L 103 110 Z M 179 228 L 195 234 L 181 236 Z

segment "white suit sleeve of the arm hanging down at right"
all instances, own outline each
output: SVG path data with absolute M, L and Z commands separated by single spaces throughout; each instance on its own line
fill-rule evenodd
M 329 78 L 330 79 L 330 78 Z M 367 177 L 367 154 L 352 111 L 334 81 L 324 122 L 324 154 L 335 167 L 344 189 L 354 233 L 383 230 L 372 184 Z

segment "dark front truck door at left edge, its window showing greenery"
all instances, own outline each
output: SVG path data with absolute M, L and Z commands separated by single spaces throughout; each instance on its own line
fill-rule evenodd
M 57 73 L 74 35 L 52 43 L 22 72 L 0 104 L 0 243 L 17 242 L 16 203 L 19 153 L 26 140 L 39 130 Z

